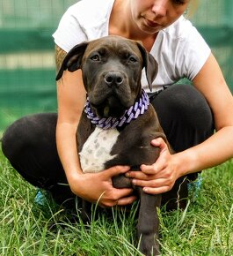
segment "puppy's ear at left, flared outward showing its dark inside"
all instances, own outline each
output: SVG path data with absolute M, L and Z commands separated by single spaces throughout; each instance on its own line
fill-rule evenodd
M 60 70 L 56 75 L 56 80 L 61 79 L 63 72 L 66 70 L 69 70 L 69 72 L 75 72 L 76 70 L 81 68 L 82 58 L 84 56 L 84 51 L 87 46 L 88 42 L 84 41 L 69 50 L 68 54 L 64 57 L 62 61 Z

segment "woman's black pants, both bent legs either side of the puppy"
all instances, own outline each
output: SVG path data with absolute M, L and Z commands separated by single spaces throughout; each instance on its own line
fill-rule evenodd
M 211 109 L 194 87 L 175 85 L 151 98 L 171 147 L 176 152 L 193 147 L 214 132 Z M 4 132 L 2 149 L 11 165 L 29 183 L 52 192 L 55 200 L 75 198 L 57 154 L 57 114 L 23 117 Z M 189 176 L 194 179 L 196 174 Z

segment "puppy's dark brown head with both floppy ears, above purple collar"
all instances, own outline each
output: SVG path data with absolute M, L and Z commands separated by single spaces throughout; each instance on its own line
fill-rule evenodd
M 138 41 L 106 36 L 76 45 L 65 56 L 56 80 L 65 70 L 82 69 L 91 108 L 98 117 L 121 117 L 141 94 L 142 69 L 149 88 L 157 62 Z

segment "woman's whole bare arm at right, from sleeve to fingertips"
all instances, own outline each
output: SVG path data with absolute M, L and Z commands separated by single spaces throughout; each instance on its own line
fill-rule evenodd
M 163 139 L 154 139 L 152 144 L 161 148 L 157 162 L 142 165 L 142 172 L 127 173 L 146 192 L 167 192 L 178 177 L 213 167 L 233 157 L 233 97 L 212 54 L 193 79 L 193 85 L 204 94 L 213 111 L 216 132 L 200 145 L 177 154 L 169 153 Z

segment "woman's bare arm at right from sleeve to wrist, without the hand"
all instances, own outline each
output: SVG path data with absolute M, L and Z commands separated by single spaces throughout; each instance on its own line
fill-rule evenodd
M 193 79 L 193 85 L 205 96 L 213 111 L 216 132 L 200 145 L 184 152 L 188 172 L 207 169 L 233 157 L 233 97 L 215 56 L 211 54 L 208 57 Z M 182 172 L 186 174 L 185 170 Z

